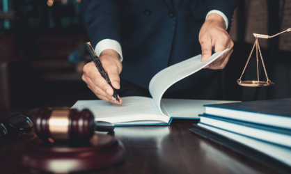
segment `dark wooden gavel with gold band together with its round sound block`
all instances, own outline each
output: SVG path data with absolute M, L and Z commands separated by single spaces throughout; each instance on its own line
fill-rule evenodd
M 24 168 L 83 173 L 125 160 L 125 148 L 120 141 L 110 134 L 94 134 L 95 130 L 112 131 L 114 126 L 95 122 L 88 109 L 40 109 L 35 118 L 34 127 L 40 139 L 31 141 L 22 150 L 20 161 Z

